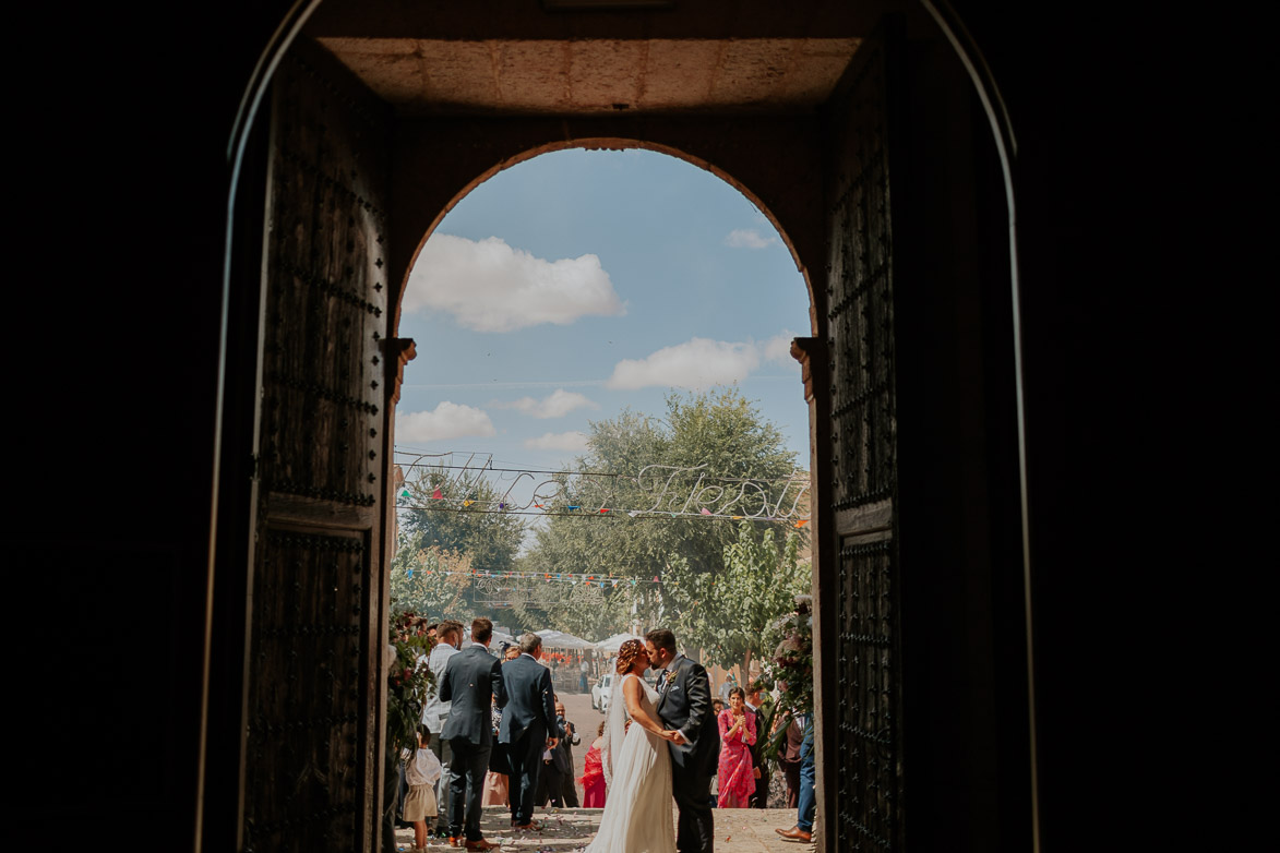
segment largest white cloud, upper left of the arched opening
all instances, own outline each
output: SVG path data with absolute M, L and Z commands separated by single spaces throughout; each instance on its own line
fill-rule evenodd
M 497 237 L 475 242 L 451 234 L 433 234 L 422 247 L 402 304 L 406 313 L 445 312 L 472 331 L 626 313 L 594 254 L 545 261 Z

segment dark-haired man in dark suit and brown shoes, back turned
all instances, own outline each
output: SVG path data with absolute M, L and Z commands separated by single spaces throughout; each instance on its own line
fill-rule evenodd
M 493 623 L 479 618 L 471 623 L 471 646 L 449 657 L 440 679 L 440 701 L 449 702 L 449 716 L 440 739 L 449 743 L 449 844 L 468 850 L 492 850 L 480 833 L 484 775 L 493 748 L 492 707 L 507 705 L 502 664 L 489 655 Z

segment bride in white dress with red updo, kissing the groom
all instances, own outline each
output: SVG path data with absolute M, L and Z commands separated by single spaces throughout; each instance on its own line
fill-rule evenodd
M 621 680 L 613 685 L 609 721 L 600 747 L 608 797 L 600 831 L 588 853 L 675 853 L 671 820 L 671 753 L 675 732 L 662 728 L 658 694 L 640 677 L 649 652 L 639 639 L 618 648 Z M 621 696 L 620 696 L 621 692 Z M 623 701 L 620 701 L 625 700 Z M 630 721 L 630 725 L 628 725 Z

